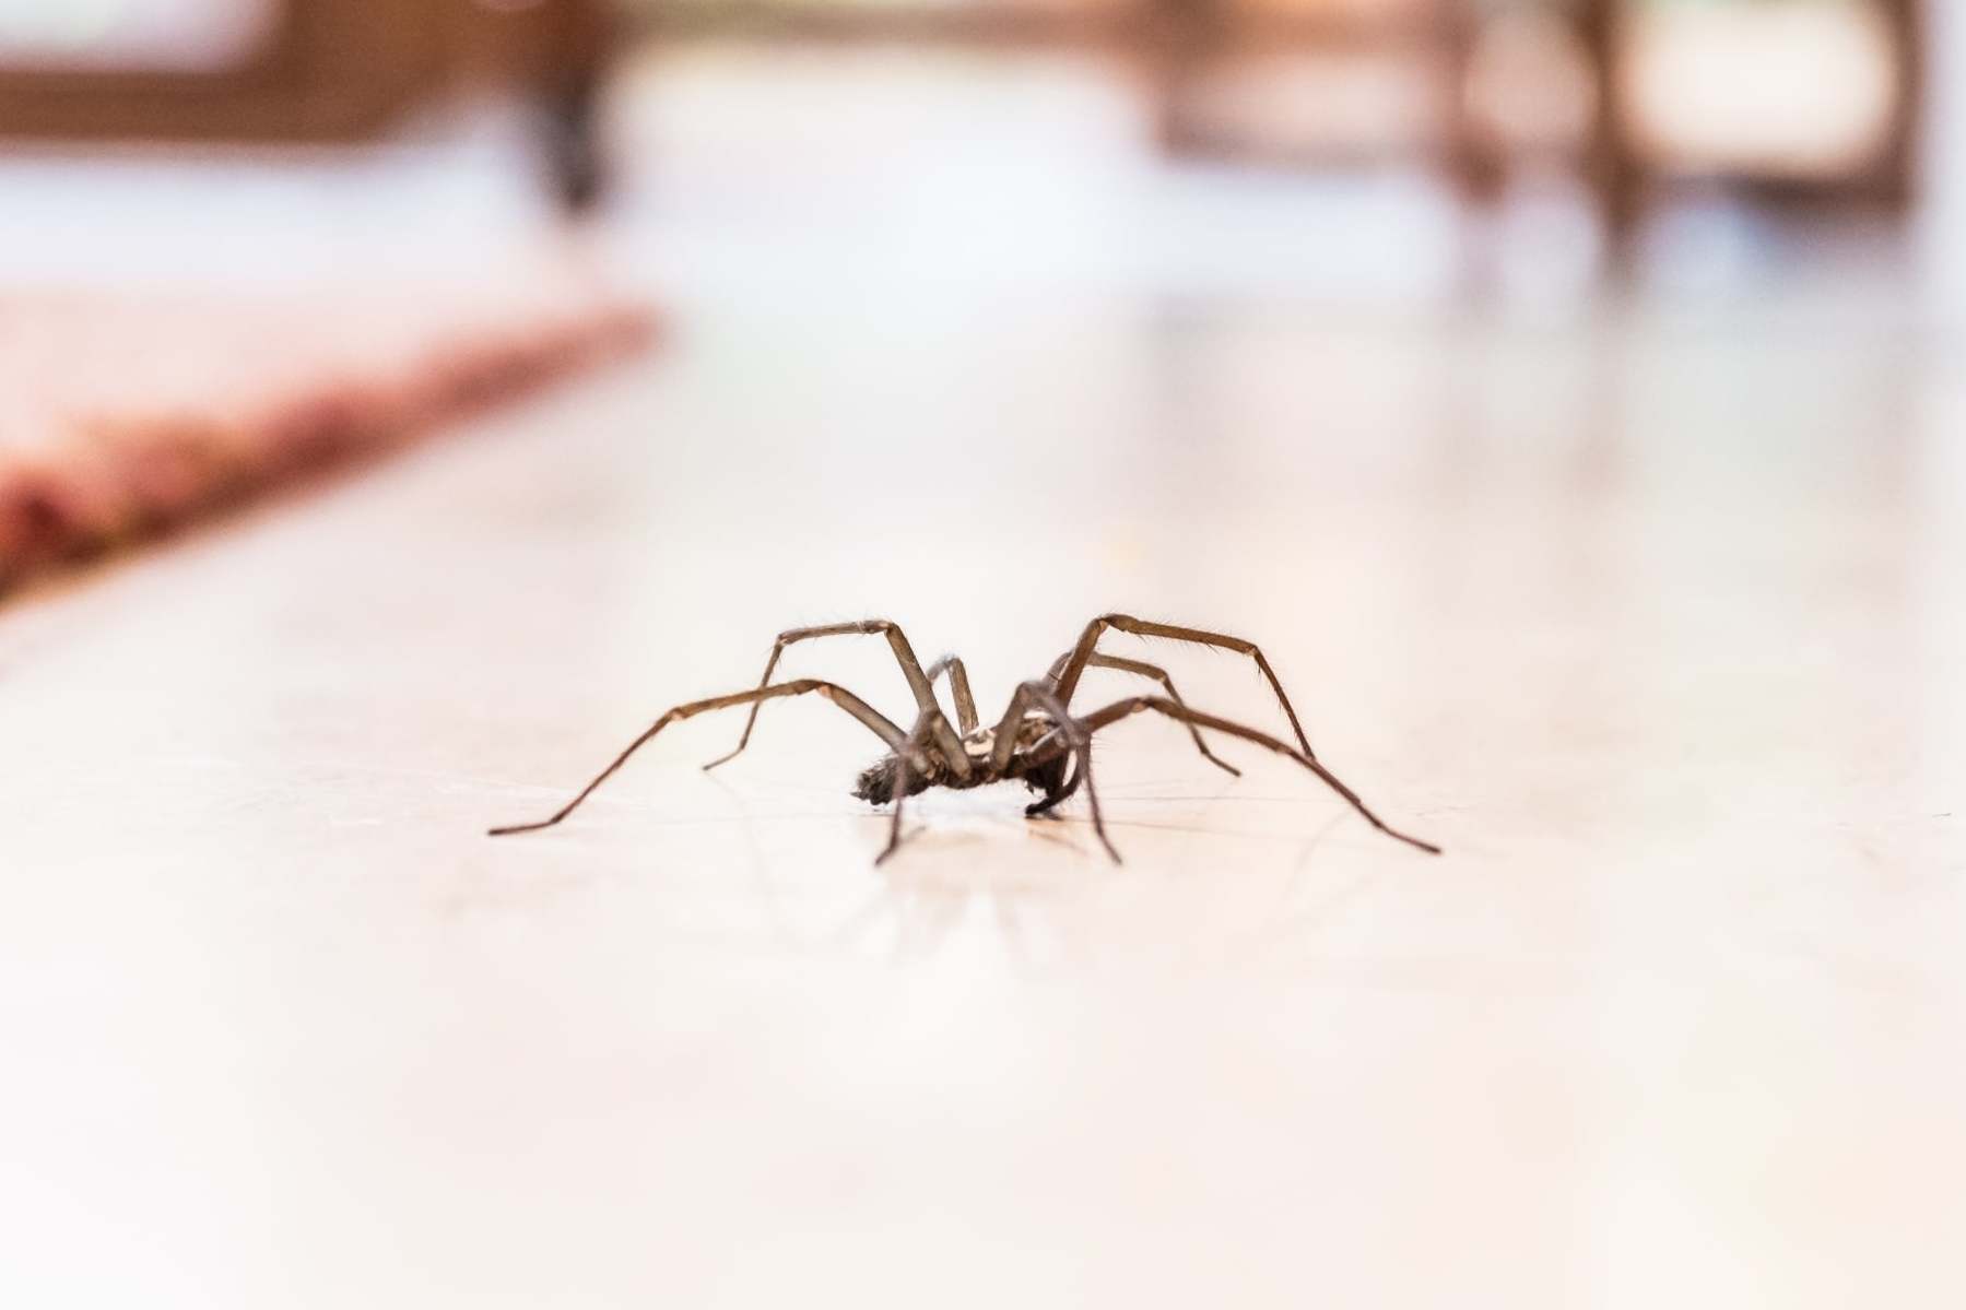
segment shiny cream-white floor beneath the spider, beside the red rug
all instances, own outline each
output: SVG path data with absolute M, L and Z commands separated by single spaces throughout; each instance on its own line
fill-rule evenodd
M 0 612 L 8 1300 L 1956 1304 L 1956 344 L 1471 299 L 1423 183 L 1164 173 L 1083 71 L 769 73 L 629 116 L 666 350 Z M 863 146 L 767 167 L 769 94 Z M 877 869 L 824 704 L 482 836 L 781 627 L 1001 704 L 1113 608 L 1447 856 L 1134 720 L 1125 865 L 997 789 Z

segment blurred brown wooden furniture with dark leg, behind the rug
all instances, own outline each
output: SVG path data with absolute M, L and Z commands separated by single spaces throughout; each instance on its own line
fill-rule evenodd
M 108 4 L 71 22 L 49 6 L 14 37 L 0 41 L 0 142 L 297 151 L 376 140 L 442 98 L 501 94 L 535 110 L 564 207 L 606 183 L 596 110 L 615 31 L 596 0 Z

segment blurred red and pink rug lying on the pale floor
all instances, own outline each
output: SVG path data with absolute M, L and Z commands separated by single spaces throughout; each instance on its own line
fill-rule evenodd
M 0 586 L 643 346 L 580 289 L 0 295 Z

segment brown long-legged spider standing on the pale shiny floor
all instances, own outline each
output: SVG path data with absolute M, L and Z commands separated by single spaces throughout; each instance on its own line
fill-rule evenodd
M 1174 690 L 1174 679 L 1168 677 L 1166 669 L 1099 653 L 1099 637 L 1105 635 L 1107 629 L 1138 637 L 1189 641 L 1195 645 L 1211 645 L 1239 655 L 1248 655 L 1256 661 L 1256 669 L 1270 683 L 1270 690 L 1274 690 L 1276 698 L 1282 702 L 1284 716 L 1290 718 L 1290 728 L 1296 734 L 1298 744 L 1292 745 L 1290 742 L 1274 738 L 1266 732 L 1244 728 L 1243 724 L 1233 724 L 1225 718 L 1189 708 L 1187 702 L 1182 700 L 1182 694 Z M 784 647 L 798 641 L 810 641 L 814 637 L 843 635 L 887 637 L 887 643 L 895 649 L 895 659 L 900 663 L 900 673 L 908 679 L 908 688 L 914 692 L 914 728 L 902 732 L 893 720 L 885 718 L 865 700 L 834 683 L 822 683 L 818 679 L 794 679 L 788 683 L 771 681 L 771 675 L 779 669 L 779 657 L 784 655 Z M 1077 690 L 1079 677 L 1087 669 L 1115 669 L 1119 673 L 1152 679 L 1154 683 L 1160 683 L 1166 694 L 1128 696 L 1125 700 L 1115 700 L 1101 710 L 1093 710 L 1091 714 L 1073 718 L 1068 706 L 1071 704 L 1071 692 Z M 950 694 L 955 700 L 957 722 L 954 726 L 936 700 L 936 679 L 944 675 L 948 675 Z M 1359 799 L 1359 793 L 1341 783 L 1337 775 L 1319 763 L 1317 755 L 1311 751 L 1309 738 L 1303 736 L 1303 726 L 1298 722 L 1298 712 L 1290 706 L 1290 696 L 1284 694 L 1284 685 L 1278 683 L 1276 671 L 1270 669 L 1270 661 L 1262 657 L 1262 651 L 1256 649 L 1252 641 L 1201 631 L 1197 627 L 1150 624 L 1127 614 L 1103 614 L 1087 624 L 1085 631 L 1079 633 L 1077 645 L 1060 655 L 1052 663 L 1050 673 L 1042 679 L 1022 683 L 1016 688 L 1011 696 L 1011 706 L 1003 712 L 1003 718 L 997 720 L 995 728 L 983 726 L 977 720 L 977 706 L 975 698 L 969 694 L 969 675 L 963 669 L 963 661 L 955 655 L 944 655 L 924 671 L 922 661 L 914 657 L 914 647 L 908 645 L 908 637 L 900 631 L 898 624 L 891 624 L 887 620 L 863 620 L 859 624 L 826 624 L 822 627 L 794 627 L 790 631 L 782 631 L 771 647 L 771 657 L 765 661 L 765 677 L 759 679 L 759 685 L 753 690 L 678 704 L 655 720 L 647 732 L 629 742 L 627 749 L 615 755 L 615 761 L 602 769 L 584 789 L 580 789 L 580 795 L 560 806 L 552 818 L 543 818 L 533 824 L 513 824 L 509 828 L 492 828 L 492 836 L 539 832 L 541 828 L 558 824 L 580 808 L 582 801 L 592 797 L 602 783 L 613 777 L 613 773 L 627 763 L 629 755 L 647 745 L 655 734 L 663 732 L 663 728 L 712 710 L 729 710 L 747 704 L 751 706 L 751 714 L 745 718 L 743 736 L 737 738 L 735 749 L 727 755 L 712 759 L 704 765 L 704 769 L 708 771 L 729 763 L 743 753 L 745 745 L 751 744 L 751 730 L 757 726 L 757 712 L 767 700 L 777 700 L 781 696 L 804 696 L 808 692 L 838 704 L 841 710 L 865 724 L 887 745 L 887 755 L 863 769 L 853 787 L 853 795 L 869 804 L 893 803 L 895 806 L 887 848 L 875 858 L 875 863 L 883 863 L 900 848 L 900 806 L 906 797 L 920 795 L 930 787 L 950 787 L 961 791 L 969 787 L 983 787 L 985 783 L 1005 781 L 1018 781 L 1030 791 L 1042 793 L 1040 801 L 1024 808 L 1026 816 L 1052 812 L 1062 801 L 1071 797 L 1083 785 L 1085 799 L 1089 801 L 1093 812 L 1093 832 L 1099 836 L 1099 844 L 1105 846 L 1107 856 L 1119 863 L 1121 858 L 1113 848 L 1113 842 L 1107 838 L 1105 818 L 1099 812 L 1099 793 L 1093 787 L 1091 738 L 1101 728 L 1144 710 L 1152 710 L 1176 720 L 1178 724 L 1185 724 L 1187 734 L 1193 738 L 1195 749 L 1201 751 L 1203 759 L 1237 777 L 1241 777 L 1241 769 L 1219 759 L 1209 749 L 1207 742 L 1201 738 L 1203 728 L 1231 738 L 1243 738 L 1244 742 L 1254 742 L 1256 745 L 1272 749 L 1278 755 L 1286 755 L 1315 773 L 1327 787 L 1345 797 L 1345 801 L 1359 810 L 1368 824 L 1386 836 L 1406 842 L 1408 846 L 1417 846 L 1431 856 L 1441 854 L 1439 846 L 1421 842 L 1419 838 L 1406 836 L 1404 832 L 1396 832 L 1386 826 L 1378 814 L 1366 808 L 1364 801 Z M 1071 767 L 1073 763 L 1077 765 L 1075 769 Z

